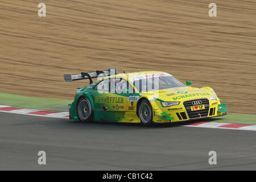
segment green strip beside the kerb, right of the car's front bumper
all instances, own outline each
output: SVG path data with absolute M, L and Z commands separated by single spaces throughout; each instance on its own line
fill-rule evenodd
M 218 123 L 236 123 L 236 124 L 245 124 L 245 125 L 256 125 L 256 115 L 228 113 L 228 115 L 205 119 L 205 121 L 218 122 Z

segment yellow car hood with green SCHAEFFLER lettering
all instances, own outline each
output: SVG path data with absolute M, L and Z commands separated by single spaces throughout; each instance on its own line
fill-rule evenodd
M 156 90 L 154 92 L 147 92 L 154 99 L 162 101 L 184 101 L 193 100 L 197 98 L 209 98 L 214 95 L 212 90 L 208 88 L 196 88 L 192 86 L 183 86 L 170 89 Z

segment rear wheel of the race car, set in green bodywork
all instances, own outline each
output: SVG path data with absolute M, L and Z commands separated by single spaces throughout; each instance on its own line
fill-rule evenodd
M 90 101 L 86 97 L 81 97 L 77 102 L 77 115 L 82 122 L 93 121 L 93 110 Z

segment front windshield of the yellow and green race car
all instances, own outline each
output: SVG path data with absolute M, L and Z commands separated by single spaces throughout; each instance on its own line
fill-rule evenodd
M 152 90 L 161 90 L 180 86 L 187 86 L 173 76 L 142 78 L 140 80 L 135 80 L 133 84 L 139 90 L 139 92 L 149 92 Z

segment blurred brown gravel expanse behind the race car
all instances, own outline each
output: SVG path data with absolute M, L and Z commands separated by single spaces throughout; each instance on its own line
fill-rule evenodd
M 165 71 L 212 87 L 232 113 L 255 113 L 256 1 L 0 2 L 0 92 L 72 99 L 63 73 Z

